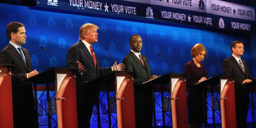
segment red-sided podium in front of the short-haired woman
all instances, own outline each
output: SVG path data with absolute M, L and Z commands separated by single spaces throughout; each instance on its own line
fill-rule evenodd
M 232 81 L 232 76 L 216 75 L 200 83 L 197 83 L 196 85 L 215 86 L 216 84 L 219 84 L 219 89 L 220 89 L 221 126 L 222 128 L 236 128 L 236 116 L 235 116 L 236 107 L 235 107 L 235 98 L 234 98 L 235 92 L 234 92 L 234 82 Z M 205 118 L 207 119 L 207 114 L 205 116 L 206 116 Z M 215 119 L 213 124 L 215 126 Z

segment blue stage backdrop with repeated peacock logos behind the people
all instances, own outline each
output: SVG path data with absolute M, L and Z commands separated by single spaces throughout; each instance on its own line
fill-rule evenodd
M 0 3 L 0 8 L 2 10 L 0 14 L 0 49 L 3 49 L 9 42 L 5 30 L 6 25 L 13 21 L 22 22 L 26 25 L 27 35 L 26 44 L 22 47 L 30 51 L 33 69 L 37 69 L 39 72 L 56 66 L 50 54 L 46 50 L 40 49 L 40 46 L 51 51 L 59 67 L 66 67 L 66 53 L 69 47 L 78 41 L 79 28 L 85 23 L 93 23 L 100 28 L 97 31 L 99 34 L 98 42 L 93 44 L 93 47 L 101 67 L 113 65 L 110 55 L 104 48 L 107 48 L 114 60 L 120 63 L 130 51 L 130 36 L 139 34 L 143 40 L 141 53 L 148 57 L 152 75 L 163 75 L 171 71 L 164 58 L 157 54 L 167 58 L 173 73 L 183 73 L 185 64 L 192 59 L 190 55 L 192 46 L 201 43 L 208 51 L 203 63 L 206 66 L 208 77 L 212 77 L 221 74 L 216 59 L 221 65 L 223 60 L 231 55 L 231 42 L 241 40 L 245 46 L 242 57 L 246 60 L 255 77 L 256 46 L 255 40 L 248 38 L 250 36 L 187 29 L 177 25 L 174 27 L 146 22 L 38 11 L 29 9 L 29 7 L 10 4 Z M 46 97 L 44 98 L 46 99 Z M 43 101 L 44 99 L 40 100 L 40 103 L 44 104 Z M 107 103 L 107 101 L 104 102 Z M 43 119 L 40 120 L 40 123 L 44 123 Z M 92 118 L 92 124 L 97 125 L 95 118 Z

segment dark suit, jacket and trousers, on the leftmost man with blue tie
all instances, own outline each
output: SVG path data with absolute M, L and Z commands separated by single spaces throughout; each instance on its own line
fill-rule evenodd
M 10 43 L 0 51 L 0 64 L 13 64 L 11 70 L 12 96 L 13 96 L 13 119 L 14 127 L 23 124 L 27 128 L 36 128 L 38 117 L 34 110 L 34 97 L 31 82 L 22 82 L 26 79 L 26 73 L 32 71 L 29 51 L 22 48 L 26 58 L 26 65 L 20 53 Z

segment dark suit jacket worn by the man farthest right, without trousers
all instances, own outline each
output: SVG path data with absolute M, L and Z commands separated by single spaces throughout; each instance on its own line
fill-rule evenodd
M 234 82 L 235 82 L 235 89 L 246 89 L 247 87 L 243 87 L 242 86 L 242 82 L 245 79 L 254 79 L 248 69 L 248 66 L 245 62 L 245 60 L 243 60 L 241 58 L 243 65 L 245 67 L 245 74 L 242 71 L 242 68 L 240 67 L 240 65 L 238 64 L 238 62 L 236 61 L 236 59 L 231 55 L 230 57 L 228 57 L 227 59 L 225 59 L 222 63 L 222 70 L 224 75 L 234 75 L 235 77 L 233 77 Z

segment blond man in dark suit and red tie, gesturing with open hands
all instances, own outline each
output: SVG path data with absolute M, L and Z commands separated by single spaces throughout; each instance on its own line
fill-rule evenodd
M 84 24 L 79 30 L 79 42 L 73 44 L 66 55 L 67 68 L 79 68 L 76 71 L 77 86 L 77 119 L 79 128 L 90 128 L 93 105 L 98 102 L 98 85 L 84 84 L 111 71 L 124 71 L 124 64 L 113 64 L 112 67 L 99 68 L 92 44 L 98 41 L 98 26 Z M 116 65 L 116 66 L 115 66 Z M 117 68 L 117 69 L 116 69 Z

